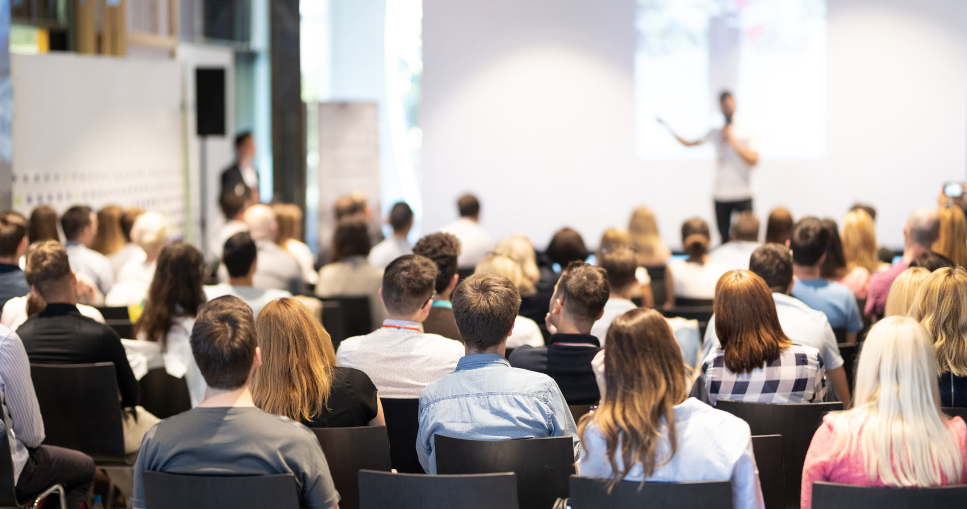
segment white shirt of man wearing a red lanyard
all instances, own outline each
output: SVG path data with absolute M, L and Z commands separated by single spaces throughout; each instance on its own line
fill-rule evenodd
M 453 373 L 463 356 L 463 343 L 427 334 L 423 324 L 387 320 L 383 325 L 343 340 L 336 353 L 340 366 L 366 373 L 381 398 L 419 398 L 430 382 Z

